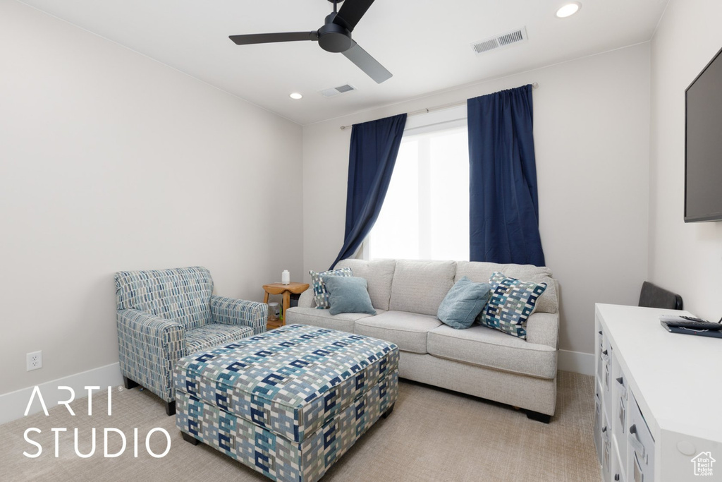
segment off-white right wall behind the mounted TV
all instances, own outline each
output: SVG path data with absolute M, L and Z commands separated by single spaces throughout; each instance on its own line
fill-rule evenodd
M 722 223 L 684 224 L 684 90 L 722 48 L 722 2 L 671 0 L 652 42 L 650 277 L 722 316 Z

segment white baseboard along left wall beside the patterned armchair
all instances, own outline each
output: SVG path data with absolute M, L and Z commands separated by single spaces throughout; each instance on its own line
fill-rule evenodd
M 88 392 L 85 387 L 100 387 L 100 390 L 108 390 L 108 387 L 116 387 L 122 384 L 123 376 L 121 375 L 120 363 L 111 363 L 97 369 L 51 380 L 51 382 L 45 382 L 38 385 L 38 387 L 40 387 L 40 393 L 43 395 L 45 407 L 50 410 L 58 405 L 58 402 L 68 400 L 68 391 L 58 390 L 58 387 L 71 387 L 77 400 L 87 398 Z M 34 386 L 22 388 L 0 395 L 0 425 L 17 420 L 25 415 L 25 408 L 27 408 L 27 403 L 30 401 L 34 388 Z M 96 391 L 94 390 L 94 392 Z M 98 407 L 97 410 L 103 410 L 103 408 Z M 40 405 L 40 401 L 36 397 L 32 401 L 28 415 L 41 411 L 43 411 L 43 406 Z

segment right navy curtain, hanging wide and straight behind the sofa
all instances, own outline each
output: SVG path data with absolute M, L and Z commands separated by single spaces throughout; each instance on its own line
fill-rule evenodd
M 469 99 L 471 261 L 544 266 L 531 85 Z

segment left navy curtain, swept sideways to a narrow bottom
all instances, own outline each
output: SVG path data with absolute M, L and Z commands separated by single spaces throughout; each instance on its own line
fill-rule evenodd
M 354 124 L 349 149 L 344 246 L 336 263 L 352 256 L 373 228 L 399 154 L 406 114 Z

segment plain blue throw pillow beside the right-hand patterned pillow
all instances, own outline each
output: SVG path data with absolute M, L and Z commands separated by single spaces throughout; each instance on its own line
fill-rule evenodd
M 474 283 L 468 277 L 462 277 L 446 293 L 436 316 L 456 330 L 471 327 L 487 304 L 491 288 L 489 283 Z

